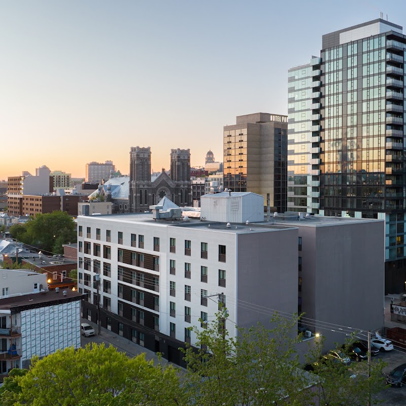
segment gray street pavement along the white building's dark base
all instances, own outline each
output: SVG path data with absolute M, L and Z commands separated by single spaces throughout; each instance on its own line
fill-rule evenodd
M 110 344 L 114 347 L 116 347 L 119 351 L 125 352 L 129 357 L 135 357 L 139 354 L 145 353 L 145 358 L 147 360 L 153 360 L 154 363 L 161 363 L 161 364 L 170 364 L 172 362 L 168 362 L 166 359 L 161 358 L 159 361 L 158 356 L 151 350 L 148 350 L 136 343 L 133 343 L 130 340 L 125 339 L 121 335 L 118 335 L 114 333 L 113 331 L 107 330 L 104 327 L 101 327 L 100 329 L 100 335 L 97 334 L 97 324 L 93 323 L 87 319 L 81 319 L 81 323 L 88 323 L 90 324 L 93 328 L 94 331 L 96 332 L 95 335 L 90 336 L 90 337 L 84 337 L 82 335 L 82 347 L 84 347 L 88 343 L 106 343 L 106 346 L 108 347 Z

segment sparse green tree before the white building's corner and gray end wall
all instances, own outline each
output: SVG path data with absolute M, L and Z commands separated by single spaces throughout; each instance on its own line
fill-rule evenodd
M 275 315 L 272 328 L 258 324 L 235 327 L 238 338 L 223 328 L 223 311 L 204 329 L 192 327 L 199 350 L 188 347 L 187 385 L 198 405 L 247 406 L 306 404 L 303 389 L 311 382 L 299 369 L 294 346 L 297 318 Z

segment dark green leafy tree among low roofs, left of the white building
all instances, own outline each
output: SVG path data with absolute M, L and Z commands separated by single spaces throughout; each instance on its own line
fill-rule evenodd
M 75 222 L 69 214 L 58 210 L 30 218 L 26 234 L 32 245 L 38 244 L 42 250 L 55 254 L 63 253 L 63 244 L 76 241 Z

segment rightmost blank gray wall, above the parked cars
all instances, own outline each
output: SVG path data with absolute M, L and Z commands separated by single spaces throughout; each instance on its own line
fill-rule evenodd
M 306 316 L 364 331 L 382 328 L 384 222 L 309 228 L 299 227 L 302 309 Z M 315 255 L 308 256 L 308 250 L 314 250 Z M 345 334 L 338 331 L 339 327 L 332 326 L 316 332 L 326 337 L 327 349 L 334 347 L 334 342 L 345 341 Z

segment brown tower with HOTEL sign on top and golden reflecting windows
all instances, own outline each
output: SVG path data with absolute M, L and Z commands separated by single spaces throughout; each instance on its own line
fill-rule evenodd
M 270 207 L 286 210 L 287 116 L 255 113 L 224 127 L 224 189 L 270 197 Z

